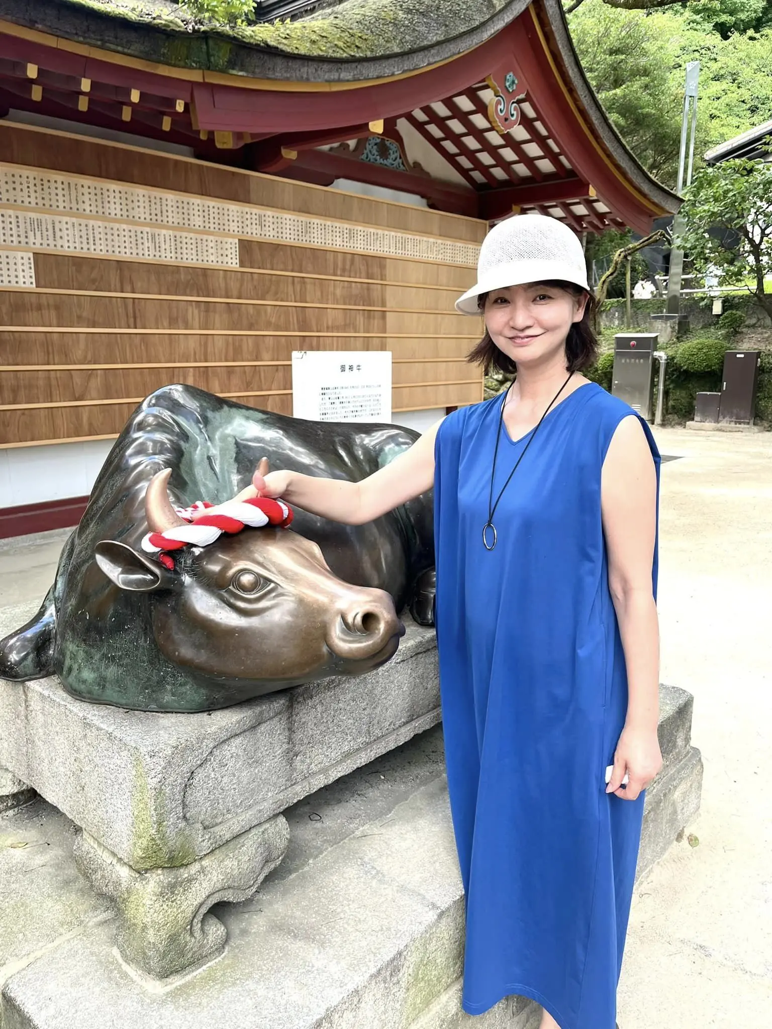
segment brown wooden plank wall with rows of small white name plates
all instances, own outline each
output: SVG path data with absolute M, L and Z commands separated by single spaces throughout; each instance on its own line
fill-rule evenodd
M 39 180 L 41 170 L 55 186 L 25 192 L 29 173 Z M 291 414 L 299 349 L 391 350 L 395 412 L 482 398 L 482 377 L 464 360 L 481 326 L 453 310 L 473 282 L 482 222 L 7 122 L 0 122 L 3 174 L 0 256 L 29 262 L 32 253 L 34 286 L 16 275 L 0 287 L 0 447 L 109 437 L 140 399 L 171 382 Z M 96 190 L 87 209 L 72 200 L 83 194 L 73 191 L 73 176 Z M 122 252 L 105 252 L 105 233 L 147 230 L 148 221 L 138 221 L 126 197 L 110 202 L 112 213 L 100 208 L 104 180 L 167 201 L 192 194 L 302 214 L 301 229 L 287 222 L 281 232 L 307 232 L 311 219 L 325 240 L 344 226 L 356 246 L 208 229 L 207 246 L 225 257 L 160 259 L 129 252 L 140 244 L 122 237 L 110 244 Z M 41 196 L 52 198 L 47 207 L 36 206 Z M 383 230 L 376 235 L 385 252 L 373 252 L 372 232 L 351 236 L 358 226 Z M 201 233 L 174 221 L 149 228 L 170 239 Z M 415 239 L 442 258 L 395 253 Z M 457 254 L 464 259 L 448 259 Z

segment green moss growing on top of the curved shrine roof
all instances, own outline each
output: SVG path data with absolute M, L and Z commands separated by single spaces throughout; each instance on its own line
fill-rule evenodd
M 352 60 L 423 49 L 483 25 L 510 0 L 344 0 L 307 17 L 274 24 L 225 26 L 194 19 L 171 0 L 61 0 L 63 5 L 135 26 L 166 30 L 169 60 L 201 66 L 202 36 L 209 67 L 226 70 L 229 42 L 299 57 Z

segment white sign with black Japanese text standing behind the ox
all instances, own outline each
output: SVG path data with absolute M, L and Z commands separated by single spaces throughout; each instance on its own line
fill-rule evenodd
M 390 422 L 391 351 L 293 351 L 292 415 L 314 422 Z

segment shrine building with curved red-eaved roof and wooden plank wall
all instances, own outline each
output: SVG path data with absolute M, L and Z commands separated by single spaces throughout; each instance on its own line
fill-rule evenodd
M 560 0 L 0 0 L 0 536 L 73 525 L 184 382 L 292 413 L 294 350 L 388 350 L 393 420 L 482 399 L 455 313 L 491 221 L 650 230 L 678 199 Z

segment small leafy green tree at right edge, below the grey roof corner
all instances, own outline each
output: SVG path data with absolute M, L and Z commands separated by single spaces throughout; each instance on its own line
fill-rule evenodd
M 681 209 L 680 245 L 696 271 L 716 270 L 726 285 L 748 285 L 772 318 L 772 168 L 762 162 L 726 161 L 697 171 Z

